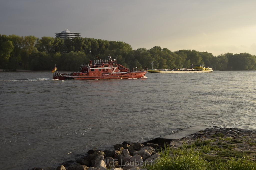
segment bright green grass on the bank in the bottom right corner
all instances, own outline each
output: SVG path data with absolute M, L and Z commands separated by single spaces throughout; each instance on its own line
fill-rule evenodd
M 198 145 L 199 150 L 195 150 L 196 147 L 191 146 L 187 148 L 183 145 L 180 148 L 173 149 L 165 147 L 160 152 L 160 159 L 156 159 L 153 165 L 147 165 L 142 168 L 147 170 L 185 170 L 185 169 L 219 169 L 219 170 L 240 170 L 240 169 L 255 169 L 256 163 L 249 159 L 249 156 L 245 152 L 235 152 L 225 148 L 217 149 L 211 147 L 206 141 L 204 143 L 196 141 L 194 144 Z M 216 155 L 208 155 L 210 150 L 218 150 Z

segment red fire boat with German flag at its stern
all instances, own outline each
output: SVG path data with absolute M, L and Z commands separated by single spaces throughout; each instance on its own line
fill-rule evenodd
M 97 57 L 98 58 L 98 57 Z M 99 59 L 99 58 L 98 58 Z M 135 68 L 133 68 L 135 69 Z M 141 78 L 147 71 L 140 70 L 134 71 L 129 70 L 121 64 L 116 64 L 116 61 L 112 61 L 111 56 L 109 60 L 97 60 L 96 63 L 82 64 L 80 72 L 73 73 L 54 73 L 53 79 L 68 80 L 95 80 L 95 79 L 131 79 Z

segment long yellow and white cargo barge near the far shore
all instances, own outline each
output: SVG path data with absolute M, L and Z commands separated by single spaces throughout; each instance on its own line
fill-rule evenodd
M 196 65 L 192 69 L 178 68 L 178 69 L 148 69 L 149 73 L 211 73 L 212 68 L 204 67 L 204 65 Z

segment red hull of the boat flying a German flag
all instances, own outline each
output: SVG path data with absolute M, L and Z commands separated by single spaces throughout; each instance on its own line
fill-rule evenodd
M 60 74 L 58 76 L 54 76 L 53 79 L 58 79 L 58 80 L 139 79 L 139 78 L 142 78 L 146 73 L 147 73 L 146 71 L 134 71 L 134 72 L 116 73 L 116 74 L 103 75 L 103 76 L 88 76 L 82 73 L 78 75 L 61 75 Z

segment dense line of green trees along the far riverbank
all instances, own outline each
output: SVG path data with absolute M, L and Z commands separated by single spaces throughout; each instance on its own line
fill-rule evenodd
M 130 44 L 94 38 L 61 39 L 54 37 L 0 34 L 0 68 L 78 71 L 89 60 L 111 55 L 127 68 L 169 69 L 204 65 L 214 70 L 256 70 L 256 56 L 248 53 L 225 53 L 213 56 L 196 50 L 170 51 L 159 46 L 132 49 Z

